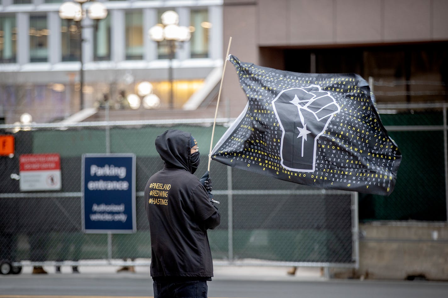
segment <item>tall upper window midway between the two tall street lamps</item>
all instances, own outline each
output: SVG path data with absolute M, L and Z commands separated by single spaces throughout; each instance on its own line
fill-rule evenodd
M 143 13 L 126 12 L 126 60 L 143 59 Z

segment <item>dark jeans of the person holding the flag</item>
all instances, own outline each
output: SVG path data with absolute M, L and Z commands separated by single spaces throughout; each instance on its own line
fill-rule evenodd
M 207 298 L 207 281 L 153 283 L 154 298 Z

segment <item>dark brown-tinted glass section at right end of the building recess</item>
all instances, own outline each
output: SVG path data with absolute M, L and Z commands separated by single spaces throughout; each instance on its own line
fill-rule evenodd
M 364 50 L 364 77 L 373 77 L 377 102 L 446 101 L 448 43 Z

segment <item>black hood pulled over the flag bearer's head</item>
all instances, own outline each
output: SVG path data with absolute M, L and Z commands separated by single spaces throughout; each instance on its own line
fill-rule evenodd
M 191 133 L 170 129 L 155 139 L 155 149 L 168 168 L 191 170 Z

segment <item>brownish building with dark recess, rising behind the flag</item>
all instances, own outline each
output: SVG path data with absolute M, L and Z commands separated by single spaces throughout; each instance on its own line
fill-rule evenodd
M 224 48 L 241 61 L 293 72 L 355 72 L 377 102 L 448 100 L 444 0 L 224 0 Z M 233 116 L 246 105 L 224 78 Z

